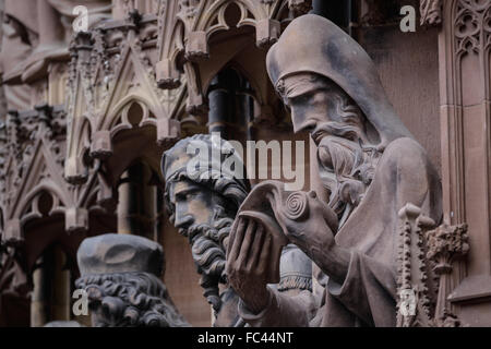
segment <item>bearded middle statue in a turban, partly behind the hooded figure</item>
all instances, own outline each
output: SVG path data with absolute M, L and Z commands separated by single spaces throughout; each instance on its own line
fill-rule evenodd
M 199 148 L 200 153 L 188 148 Z M 224 152 L 227 148 L 230 152 Z M 213 154 L 219 157 L 213 159 Z M 202 166 L 193 171 L 188 167 L 191 160 Z M 230 228 L 250 184 L 247 179 L 225 170 L 223 164 L 230 160 L 243 168 L 242 159 L 230 143 L 219 137 L 215 142 L 212 135 L 205 134 L 181 140 L 163 158 L 170 220 L 190 241 L 193 260 L 202 275 L 201 286 L 215 311 L 214 326 L 217 327 L 243 325 L 237 313 L 237 293 L 227 285 L 225 265 Z M 311 274 L 310 260 L 297 246 L 289 245 L 282 254 L 279 284 L 276 280 L 277 285 L 272 287 L 288 294 L 311 290 Z M 226 285 L 221 293 L 219 284 Z

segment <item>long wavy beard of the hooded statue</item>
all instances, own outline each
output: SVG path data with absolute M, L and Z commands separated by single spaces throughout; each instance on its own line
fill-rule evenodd
M 330 206 L 340 228 L 372 182 L 380 154 L 367 144 L 362 129 L 355 123 L 328 122 L 319 130 L 324 130 L 318 140 L 321 180 L 331 193 Z

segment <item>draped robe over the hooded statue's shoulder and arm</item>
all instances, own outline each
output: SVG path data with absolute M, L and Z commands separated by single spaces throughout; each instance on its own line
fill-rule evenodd
M 270 289 L 270 305 L 239 313 L 251 326 L 395 326 L 398 212 L 407 203 L 440 222 L 441 183 L 424 149 L 412 139 L 388 144 L 366 196 L 336 234 L 351 252 L 343 285 L 327 281 L 321 299 L 309 291 L 288 297 Z

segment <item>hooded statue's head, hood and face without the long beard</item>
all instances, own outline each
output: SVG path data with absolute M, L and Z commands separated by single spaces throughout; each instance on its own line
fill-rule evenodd
M 295 19 L 270 49 L 266 67 L 291 110 L 295 131 L 311 132 L 318 144 L 323 134 L 339 128 L 338 136 L 352 139 L 358 132 L 361 141 L 380 151 L 411 136 L 363 48 L 320 15 Z M 334 130 L 319 129 L 327 122 Z

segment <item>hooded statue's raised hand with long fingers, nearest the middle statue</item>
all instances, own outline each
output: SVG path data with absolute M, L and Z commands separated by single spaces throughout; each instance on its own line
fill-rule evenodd
M 267 306 L 267 267 L 272 237 L 252 219 L 238 218 L 237 233 L 229 242 L 227 277 L 230 286 L 253 313 Z

